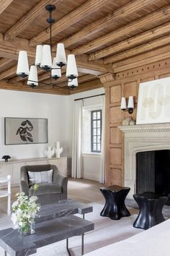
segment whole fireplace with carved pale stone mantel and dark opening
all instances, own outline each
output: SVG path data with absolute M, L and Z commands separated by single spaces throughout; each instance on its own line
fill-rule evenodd
M 124 176 L 125 186 L 130 187 L 128 197 L 133 198 L 133 194 L 136 192 L 146 190 L 169 195 L 170 124 L 140 124 L 119 128 L 125 134 Z M 160 161 L 158 161 L 158 157 L 160 157 Z M 146 160 L 147 158 L 148 160 Z M 166 164 L 164 158 L 169 159 Z M 144 173 L 141 174 L 138 172 L 138 168 L 144 166 L 145 161 L 146 167 L 143 170 Z M 150 168 L 148 174 L 147 165 Z M 146 175 L 147 181 L 143 180 L 143 175 Z

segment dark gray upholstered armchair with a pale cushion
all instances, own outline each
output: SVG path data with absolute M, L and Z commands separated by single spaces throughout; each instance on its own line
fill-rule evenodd
M 32 174 L 39 172 L 37 173 L 39 175 L 40 172 L 43 174 L 43 171 L 49 170 L 53 170 L 51 183 L 37 183 L 30 181 L 29 174 L 31 174 L 31 172 Z M 34 190 L 32 189 L 32 184 L 34 183 L 39 184 L 37 191 L 35 191 L 35 195 L 37 195 L 38 202 L 40 202 L 41 205 L 47 205 L 58 202 L 59 200 L 67 199 L 68 177 L 63 176 L 54 165 L 22 166 L 20 172 L 20 191 L 24 192 L 27 196 L 33 195 Z

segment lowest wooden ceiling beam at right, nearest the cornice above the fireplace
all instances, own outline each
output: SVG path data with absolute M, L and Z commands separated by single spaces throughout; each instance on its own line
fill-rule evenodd
M 104 59 L 104 64 L 121 61 L 122 59 L 127 59 L 129 57 L 132 57 L 132 56 L 135 56 L 138 54 L 142 54 L 146 51 L 151 51 L 154 48 L 158 48 L 160 46 L 164 46 L 169 43 L 170 43 L 170 35 L 165 35 L 162 38 L 152 40 L 149 43 L 144 43 L 141 46 L 131 48 L 127 51 L 122 51 L 122 52 L 120 52 L 120 54 L 115 54 L 115 55 L 109 56 Z

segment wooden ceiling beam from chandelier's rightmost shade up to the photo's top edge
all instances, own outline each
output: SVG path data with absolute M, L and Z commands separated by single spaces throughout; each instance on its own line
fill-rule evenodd
M 79 42 L 80 38 L 81 40 L 83 40 L 84 38 L 89 38 L 91 35 L 94 35 L 94 33 L 98 33 L 100 30 L 103 30 L 108 25 L 110 25 L 110 22 L 114 22 L 115 20 L 120 19 L 121 17 L 128 17 L 128 15 L 136 11 L 139 11 L 139 9 L 143 9 L 148 4 L 153 4 L 156 1 L 158 0 L 130 1 L 130 3 L 125 4 L 124 6 L 116 9 L 115 12 L 112 12 L 107 16 L 102 17 L 101 19 L 82 28 L 79 32 L 75 33 L 74 35 L 69 35 L 68 38 L 62 40 L 62 43 L 64 43 L 65 47 L 72 46 L 74 43 Z

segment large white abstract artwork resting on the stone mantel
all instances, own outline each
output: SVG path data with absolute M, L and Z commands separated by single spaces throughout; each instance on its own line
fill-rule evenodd
M 170 122 L 170 77 L 139 85 L 136 124 Z

